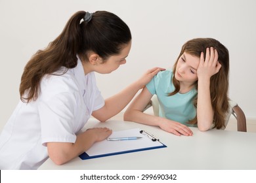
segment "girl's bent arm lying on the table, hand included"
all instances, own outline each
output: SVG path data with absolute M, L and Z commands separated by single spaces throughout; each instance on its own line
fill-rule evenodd
M 151 98 L 152 94 L 146 87 L 144 87 L 142 92 L 135 98 L 135 100 L 125 111 L 123 116 L 124 120 L 138 122 L 140 124 L 158 126 L 161 129 L 175 135 L 188 136 L 193 134 L 186 125 L 183 125 L 179 122 L 174 122 L 172 120 L 143 113 L 142 110 L 146 107 Z

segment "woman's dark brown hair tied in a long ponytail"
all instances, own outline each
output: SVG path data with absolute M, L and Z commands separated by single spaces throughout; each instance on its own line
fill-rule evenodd
M 93 51 L 106 60 L 119 54 L 123 45 L 131 41 L 129 27 L 115 14 L 97 11 L 91 20 L 83 21 L 85 13 L 76 12 L 62 33 L 28 61 L 20 83 L 20 99 L 23 102 L 37 99 L 43 76 L 53 74 L 62 66 L 66 67 L 66 71 L 74 68 L 77 54 L 87 60 L 87 52 Z

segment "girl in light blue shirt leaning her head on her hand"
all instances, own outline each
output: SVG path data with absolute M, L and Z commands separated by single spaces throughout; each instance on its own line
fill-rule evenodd
M 124 120 L 156 125 L 175 135 L 192 135 L 188 126 L 201 131 L 224 127 L 228 112 L 228 50 L 211 38 L 186 42 L 173 71 L 163 71 L 131 103 Z M 153 95 L 160 102 L 159 116 L 145 114 Z

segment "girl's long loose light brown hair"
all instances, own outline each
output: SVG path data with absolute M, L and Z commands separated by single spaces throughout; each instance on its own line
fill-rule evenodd
M 210 95 L 211 95 L 211 105 L 213 106 L 214 116 L 213 123 L 214 127 L 217 129 L 221 129 L 224 126 L 224 120 L 226 116 L 226 112 L 228 112 L 229 104 L 228 104 L 228 72 L 229 72 L 229 54 L 228 49 L 221 44 L 221 42 L 211 39 L 211 38 L 198 38 L 192 39 L 186 42 L 182 48 L 181 53 L 175 65 L 173 66 L 173 73 L 176 71 L 176 66 L 179 58 L 181 58 L 184 52 L 191 54 L 192 56 L 197 56 L 200 58 L 201 52 L 203 52 L 203 56 L 205 57 L 206 48 L 213 47 L 217 50 L 219 55 L 219 63 L 221 63 L 221 69 L 216 75 L 211 76 L 210 79 Z M 173 76 L 173 85 L 175 86 L 175 90 L 169 93 L 169 96 L 175 95 L 180 90 L 179 81 Z M 198 81 L 195 82 L 195 88 L 198 90 Z M 197 95 L 194 99 L 194 106 L 197 107 L 198 98 Z M 195 117 L 193 120 L 189 122 L 189 124 L 197 124 L 197 118 Z

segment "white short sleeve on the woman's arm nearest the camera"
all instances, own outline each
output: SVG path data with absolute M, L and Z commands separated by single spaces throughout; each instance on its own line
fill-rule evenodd
M 38 111 L 43 145 L 47 142 L 75 142 L 73 123 L 77 95 L 79 91 L 69 78 L 53 76 L 42 80 Z

